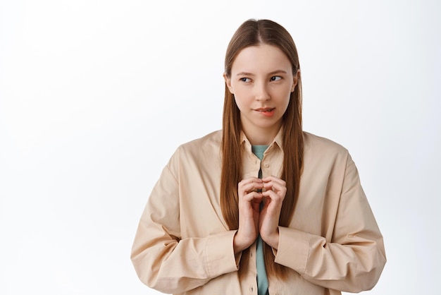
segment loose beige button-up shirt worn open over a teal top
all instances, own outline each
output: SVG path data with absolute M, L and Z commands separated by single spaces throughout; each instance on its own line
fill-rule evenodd
M 237 275 L 235 230 L 220 206 L 221 131 L 181 145 L 163 169 L 139 222 L 132 263 L 147 286 L 173 294 L 257 294 L 256 243 L 249 272 Z M 243 178 L 280 177 L 280 132 L 260 161 L 242 134 Z M 290 227 L 279 227 L 269 294 L 340 294 L 371 289 L 386 262 L 383 236 L 347 150 L 304 133 L 304 171 Z M 240 255 L 239 255 L 240 259 Z M 338 290 L 338 291 L 337 291 Z

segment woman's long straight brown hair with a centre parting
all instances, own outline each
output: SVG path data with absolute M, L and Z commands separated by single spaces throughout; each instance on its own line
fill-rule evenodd
M 225 54 L 225 75 L 231 78 L 231 68 L 239 52 L 250 46 L 268 44 L 278 47 L 290 60 L 292 73 L 297 76 L 299 56 L 292 37 L 285 28 L 272 20 L 247 20 L 242 23 L 232 36 Z M 240 110 L 235 98 L 225 84 L 223 104 L 223 138 L 222 138 L 222 174 L 221 174 L 221 209 L 228 227 L 238 229 L 239 207 L 237 183 L 242 180 L 242 148 L 240 143 Z M 300 76 L 285 114 L 282 116 L 283 167 L 281 178 L 286 182 L 287 192 L 280 212 L 279 224 L 287 227 L 294 213 L 294 201 L 299 195 L 300 176 L 303 164 L 302 133 L 302 80 Z M 264 257 L 268 277 L 284 279 L 287 268 L 274 262 L 271 247 L 265 244 Z M 242 252 L 240 277 L 247 272 L 249 249 Z

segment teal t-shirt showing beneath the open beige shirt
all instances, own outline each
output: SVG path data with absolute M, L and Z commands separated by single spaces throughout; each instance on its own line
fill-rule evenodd
M 266 151 L 268 145 L 252 145 L 251 151 L 260 160 L 263 159 L 263 152 Z M 262 178 L 262 169 L 259 169 L 259 179 Z M 263 203 L 261 203 L 263 205 Z M 259 295 L 268 294 L 268 277 L 266 277 L 265 261 L 263 259 L 263 241 L 261 236 L 257 237 L 256 242 L 256 268 L 257 268 L 257 293 Z

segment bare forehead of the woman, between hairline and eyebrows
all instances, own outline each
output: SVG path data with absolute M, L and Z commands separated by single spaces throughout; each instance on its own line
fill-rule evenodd
M 231 71 L 254 73 L 284 70 L 289 72 L 291 69 L 291 62 L 282 50 L 273 45 L 261 44 L 242 49 L 232 63 Z

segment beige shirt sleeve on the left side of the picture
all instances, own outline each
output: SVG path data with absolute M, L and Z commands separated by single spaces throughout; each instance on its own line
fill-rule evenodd
M 139 279 L 165 293 L 182 293 L 238 269 L 236 231 L 181 239 L 177 179 L 169 163 L 142 213 L 131 253 Z

